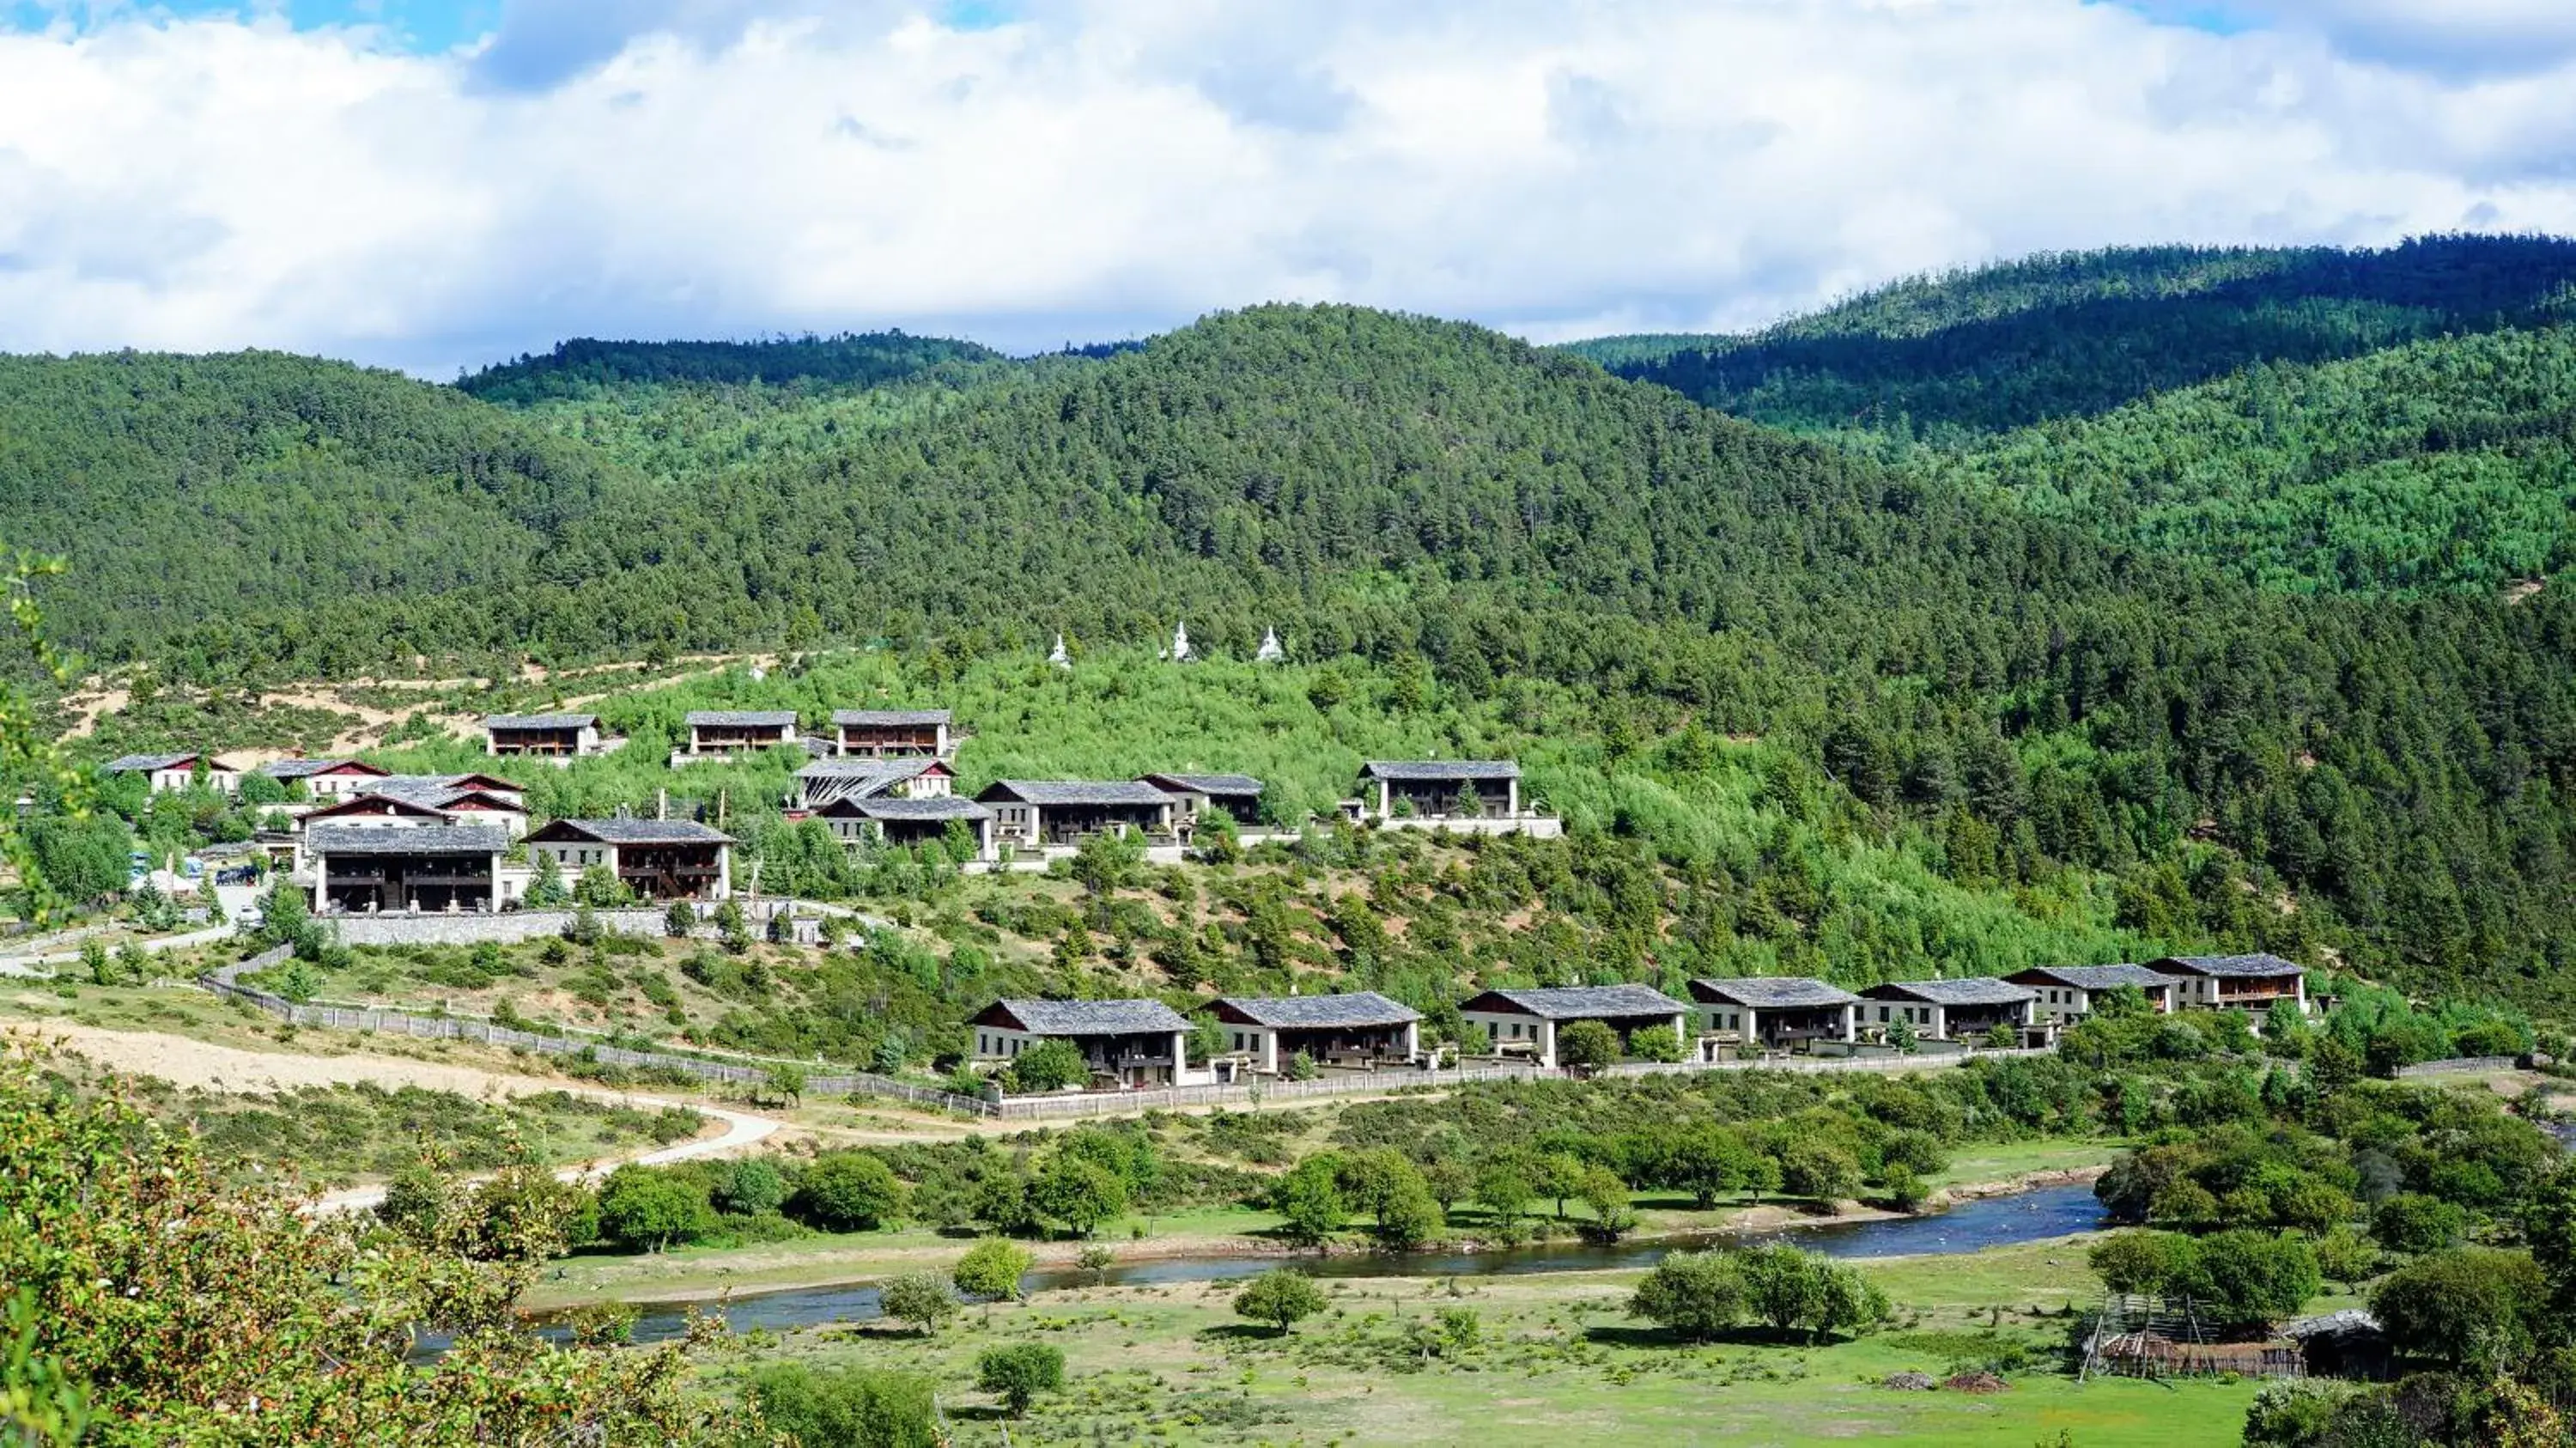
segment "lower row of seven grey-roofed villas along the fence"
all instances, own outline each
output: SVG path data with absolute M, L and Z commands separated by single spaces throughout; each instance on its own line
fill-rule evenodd
M 1695 979 L 1690 1002 L 1643 984 L 1507 987 L 1458 1005 L 1504 1059 L 1558 1064 L 1558 1038 L 1579 1020 L 1607 1025 L 1625 1049 L 1638 1031 L 1672 1031 L 1700 1062 L 1739 1049 L 1803 1051 L 1883 1043 L 1899 1023 L 1924 1043 L 1986 1043 L 2009 1028 L 2030 1046 L 2087 1018 L 2115 987 L 2138 987 L 2156 1013 L 2246 1010 L 2275 1000 L 2308 1007 L 2306 971 L 2280 956 L 2166 956 L 2143 966 L 2035 966 L 2002 979 L 1886 982 L 1860 992 L 1808 976 Z M 1159 1000 L 997 1000 L 969 1020 L 984 1067 L 1007 1067 L 1038 1041 L 1072 1041 L 1100 1085 L 1208 1085 L 1280 1074 L 1303 1054 L 1324 1069 L 1422 1062 L 1422 1013 L 1378 992 L 1216 997 L 1224 1049 L 1190 1064 L 1190 1020 Z

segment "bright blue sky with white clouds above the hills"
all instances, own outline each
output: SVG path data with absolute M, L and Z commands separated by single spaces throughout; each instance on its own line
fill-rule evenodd
M 0 0 L 0 350 L 1741 330 L 2576 232 L 2576 0 Z

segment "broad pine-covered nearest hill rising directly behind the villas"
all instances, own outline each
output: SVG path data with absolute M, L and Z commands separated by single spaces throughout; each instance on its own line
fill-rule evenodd
M 10 363 L 8 541 L 72 557 L 44 598 L 75 644 L 250 685 L 829 639 L 1036 670 L 1056 629 L 1185 618 L 1242 654 L 1275 624 L 1412 680 L 1396 709 L 1458 691 L 1522 719 L 1515 678 L 1564 680 L 1597 706 L 1558 727 L 1685 781 L 1708 732 L 1765 734 L 1821 770 L 1783 801 L 1922 830 L 2027 910 L 2117 881 L 2166 922 L 2143 933 L 2331 940 L 2424 989 L 2537 995 L 2576 948 L 2555 590 L 2264 593 L 1347 307 L 994 368 L 860 430 L 809 425 L 853 397 L 788 389 L 672 451 L 706 399 L 510 412 L 294 358 Z

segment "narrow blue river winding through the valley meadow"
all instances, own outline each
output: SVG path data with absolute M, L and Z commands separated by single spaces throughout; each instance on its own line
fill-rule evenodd
M 1883 1221 L 1834 1221 L 1824 1226 L 1793 1226 L 1767 1239 L 1798 1242 L 1826 1257 L 1914 1257 L 1978 1252 L 2017 1242 L 2045 1242 L 2071 1232 L 2102 1226 L 2102 1206 L 2089 1183 L 2038 1188 L 2012 1196 L 1976 1198 L 1950 1211 L 1927 1216 L 1891 1216 Z M 1288 1257 L 1288 1262 L 1316 1278 L 1484 1278 L 1525 1273 L 1600 1273 L 1618 1268 L 1651 1268 L 1667 1252 L 1739 1244 L 1736 1234 L 1656 1237 L 1651 1242 L 1615 1242 L 1607 1247 L 1589 1242 L 1546 1242 L 1538 1247 L 1507 1247 L 1494 1252 L 1360 1252 L 1347 1257 Z M 1108 1270 L 1110 1286 L 1157 1283 L 1211 1283 L 1249 1278 L 1278 1268 L 1283 1257 L 1141 1257 Z M 1023 1278 L 1025 1291 L 1087 1286 L 1090 1273 L 1074 1268 L 1041 1268 Z M 688 1327 L 690 1304 L 644 1304 L 634 1327 L 636 1342 L 677 1337 Z M 708 1306 L 708 1304 L 698 1304 Z M 708 1306 L 714 1311 L 714 1306 Z M 768 1327 L 788 1332 L 827 1322 L 866 1322 L 878 1314 L 876 1288 L 868 1283 L 837 1283 L 814 1288 L 786 1288 L 773 1293 L 734 1296 L 721 1306 L 724 1322 L 734 1332 Z

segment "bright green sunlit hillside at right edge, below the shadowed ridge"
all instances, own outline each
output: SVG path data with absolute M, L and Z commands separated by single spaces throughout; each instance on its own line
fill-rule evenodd
M 2267 587 L 2494 593 L 2576 564 L 2576 327 L 2262 363 L 1950 472 Z

